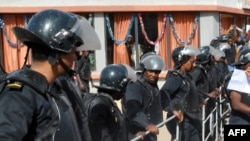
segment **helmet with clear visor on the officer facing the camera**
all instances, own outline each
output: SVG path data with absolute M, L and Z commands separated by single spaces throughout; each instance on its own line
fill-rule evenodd
M 165 69 L 164 60 L 154 52 L 148 52 L 141 58 L 141 70 L 161 71 Z

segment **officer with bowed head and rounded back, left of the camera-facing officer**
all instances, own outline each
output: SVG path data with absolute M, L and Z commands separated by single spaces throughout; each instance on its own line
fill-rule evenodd
M 86 93 L 83 99 L 92 141 L 127 141 L 124 118 L 116 105 L 135 72 L 125 64 L 107 65 L 101 72 L 98 93 Z

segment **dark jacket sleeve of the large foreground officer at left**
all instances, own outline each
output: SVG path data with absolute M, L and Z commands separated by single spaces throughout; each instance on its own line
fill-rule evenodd
M 27 92 L 27 91 L 26 91 Z M 21 140 L 28 132 L 34 114 L 34 99 L 19 91 L 9 91 L 0 98 L 0 140 Z

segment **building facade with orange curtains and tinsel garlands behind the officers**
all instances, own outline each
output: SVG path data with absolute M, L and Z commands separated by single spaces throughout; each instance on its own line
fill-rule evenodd
M 250 24 L 250 0 L 1 0 L 0 52 L 7 72 L 23 65 L 26 52 L 11 27 L 25 26 L 34 13 L 49 8 L 80 14 L 97 31 L 102 47 L 92 56 L 96 79 L 111 63 L 126 63 L 138 70 L 140 56 L 147 51 L 161 55 L 167 71 L 175 47 L 208 45 L 231 25 L 245 30 Z M 130 49 L 126 46 L 129 36 L 134 41 Z

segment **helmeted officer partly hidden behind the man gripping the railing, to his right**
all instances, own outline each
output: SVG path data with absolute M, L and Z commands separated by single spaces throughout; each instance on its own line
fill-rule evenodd
M 219 51 L 211 46 L 201 46 L 199 50 L 196 65 L 189 74 L 195 82 L 202 103 L 206 105 L 205 115 L 208 116 L 215 107 L 215 100 L 220 94 L 217 86 L 221 85 L 222 75 L 214 64 L 214 56 L 218 56 Z M 209 99 L 206 100 L 206 98 Z M 209 122 L 206 122 L 205 131 L 206 135 L 210 132 Z

